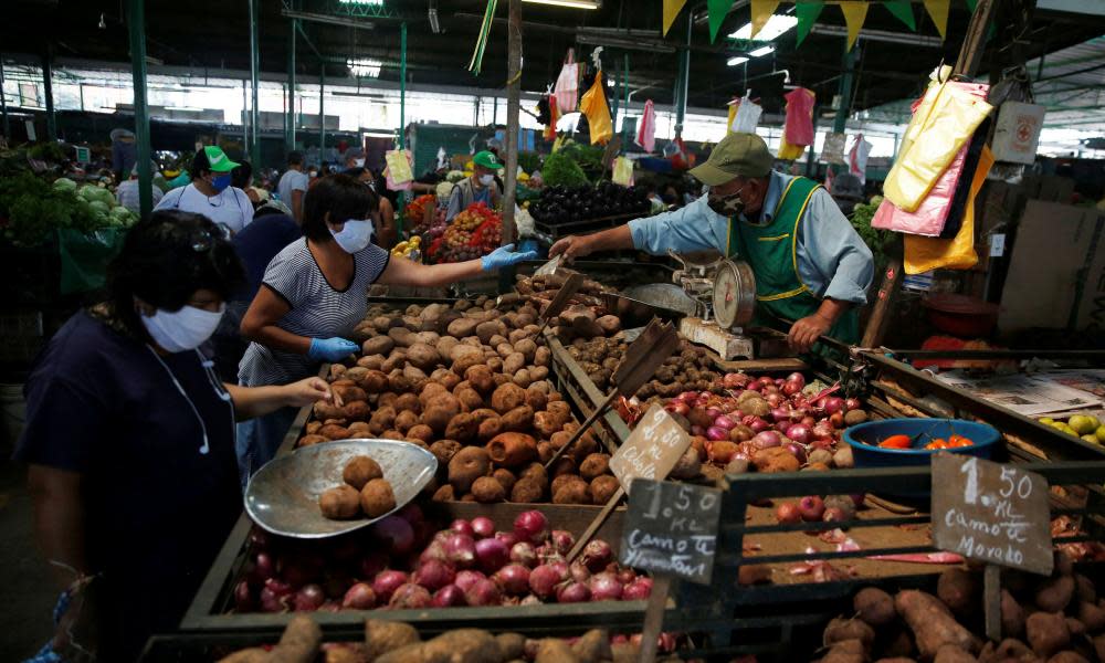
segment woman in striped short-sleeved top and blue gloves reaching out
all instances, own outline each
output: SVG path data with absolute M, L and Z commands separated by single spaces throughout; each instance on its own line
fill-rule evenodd
M 242 335 L 253 343 L 239 367 L 239 383 L 283 383 L 317 373 L 324 361 L 347 359 L 359 348 L 348 337 L 365 317 L 366 293 L 373 283 L 431 287 L 536 257 L 533 251 L 515 253 L 509 244 L 462 263 L 391 260 L 387 250 L 371 243 L 377 198 L 346 175 L 322 178 L 307 191 L 304 239 L 269 263 L 242 319 Z M 285 408 L 239 428 L 243 486 L 273 457 L 295 414 Z

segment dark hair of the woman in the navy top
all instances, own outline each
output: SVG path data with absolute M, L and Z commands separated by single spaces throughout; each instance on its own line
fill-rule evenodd
M 135 297 L 179 311 L 198 290 L 225 301 L 244 282 L 245 270 L 221 227 L 202 214 L 156 211 L 130 229 L 107 266 L 108 306 L 131 335 L 146 338 Z

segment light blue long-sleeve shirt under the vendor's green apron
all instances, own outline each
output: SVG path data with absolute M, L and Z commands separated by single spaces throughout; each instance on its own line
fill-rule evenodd
M 791 176 L 771 172 L 760 221 L 769 223 Z M 678 253 L 714 249 L 723 255 L 729 219 L 716 213 L 702 196 L 691 204 L 648 219 L 629 222 L 633 245 L 652 254 L 669 249 Z M 874 259 L 852 223 L 824 189 L 810 198 L 798 224 L 798 273 L 818 297 L 864 304 L 874 278 Z

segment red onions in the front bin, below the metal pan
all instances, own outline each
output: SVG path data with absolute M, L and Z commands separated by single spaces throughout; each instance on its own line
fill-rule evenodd
M 483 516 L 435 530 L 408 506 L 326 543 L 251 541 L 252 559 L 233 590 L 238 612 L 639 601 L 652 590 L 651 579 L 619 565 L 599 539 L 568 565 L 575 538 L 551 529 L 539 511 L 519 514 L 509 532 Z

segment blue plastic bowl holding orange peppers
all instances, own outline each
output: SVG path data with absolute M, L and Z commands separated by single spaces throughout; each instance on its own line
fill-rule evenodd
M 948 439 L 958 433 L 970 438 L 975 444 L 956 449 L 925 449 L 937 438 Z M 891 435 L 918 435 L 913 449 L 883 449 L 878 443 Z M 989 459 L 993 445 L 1001 439 L 998 429 L 986 423 L 964 419 L 881 419 L 844 430 L 844 441 L 852 448 L 856 467 L 899 467 L 928 465 L 929 456 L 938 451 Z

